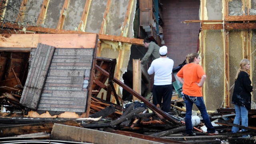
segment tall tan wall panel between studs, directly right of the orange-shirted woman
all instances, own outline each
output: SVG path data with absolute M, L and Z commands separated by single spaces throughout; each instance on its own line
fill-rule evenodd
M 224 48 L 222 30 L 207 30 L 204 32 L 204 96 L 208 110 L 219 108 L 223 102 L 224 91 Z

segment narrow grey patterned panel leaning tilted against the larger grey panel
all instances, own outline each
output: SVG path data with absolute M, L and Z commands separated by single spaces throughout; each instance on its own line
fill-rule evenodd
M 53 46 L 38 44 L 20 99 L 22 105 L 37 108 L 54 49 Z

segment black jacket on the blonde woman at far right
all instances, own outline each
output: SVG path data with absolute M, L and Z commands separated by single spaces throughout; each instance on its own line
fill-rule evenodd
M 235 81 L 234 92 L 232 95 L 232 104 L 245 106 L 247 110 L 251 109 L 252 102 L 252 82 L 248 73 L 241 71 Z

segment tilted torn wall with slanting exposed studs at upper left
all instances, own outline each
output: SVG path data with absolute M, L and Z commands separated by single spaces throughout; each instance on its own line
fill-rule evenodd
M 30 34 L 36 32 L 102 34 L 104 38 L 100 39 L 99 36 L 98 56 L 117 59 L 116 78 L 120 79 L 122 74 L 126 72 L 130 47 L 132 44 L 136 44 L 136 42 L 130 41 L 130 38 L 134 38 L 133 20 L 136 0 L 16 1 L 14 3 L 14 1 L 9 0 L 8 4 L 16 9 L 10 10 L 7 8 L 6 13 L 3 14 L 6 14 L 4 18 L 10 22 L 15 22 L 19 18 L 19 25 L 16 28 L 20 28 L 20 30 L 16 29 L 8 32 L 16 34 L 26 34 L 26 32 Z M 20 14 L 18 14 L 18 10 L 20 10 Z M 16 13 L 12 14 L 11 12 Z M 11 25 L 15 24 L 11 23 Z M 126 39 L 126 37 L 129 39 Z M 140 40 L 141 45 L 143 44 L 142 41 Z M 122 90 L 117 91 L 120 94 Z

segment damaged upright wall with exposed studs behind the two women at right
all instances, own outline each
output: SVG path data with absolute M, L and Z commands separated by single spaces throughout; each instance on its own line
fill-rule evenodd
M 228 2 L 227 5 L 226 2 Z M 255 4 L 256 0 L 245 0 L 245 2 L 243 0 L 203 0 L 200 2 L 200 20 L 206 20 L 204 24 L 209 24 L 207 20 L 212 20 L 209 21 L 211 24 L 223 25 L 223 21 L 231 18 L 231 16 L 246 16 L 248 13 L 247 7 L 250 8 L 250 15 L 256 15 L 254 13 Z M 233 21 L 231 23 L 241 23 L 236 20 Z M 243 30 L 239 28 L 223 30 L 220 27 L 215 30 L 214 28 L 212 30 L 209 28 L 200 32 L 200 52 L 203 57 L 202 66 L 207 76 L 203 88 L 207 110 L 216 110 L 217 108 L 226 106 L 234 107 L 231 104 L 234 77 L 239 68 L 239 63 L 243 58 L 250 60 L 252 86 L 256 86 L 254 84 L 255 45 L 255 30 Z M 252 103 L 255 102 L 253 93 L 252 101 Z

